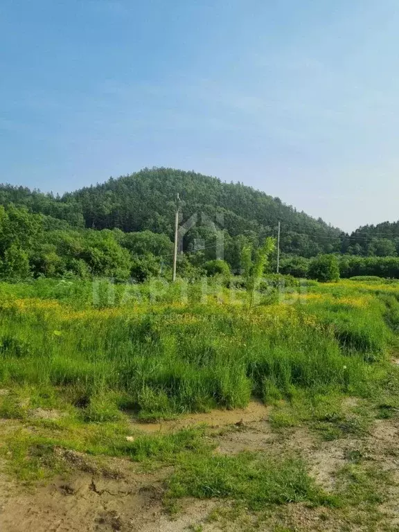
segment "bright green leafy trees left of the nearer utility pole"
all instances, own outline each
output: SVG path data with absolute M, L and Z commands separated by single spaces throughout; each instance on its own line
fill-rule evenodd
M 140 281 L 158 275 L 161 256 L 171 253 L 166 235 L 73 229 L 26 207 L 0 206 L 0 275 L 8 280 L 107 276 L 123 281 L 133 276 Z

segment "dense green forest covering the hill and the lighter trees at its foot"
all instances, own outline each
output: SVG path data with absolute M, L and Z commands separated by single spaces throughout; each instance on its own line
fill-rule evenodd
M 341 254 L 345 276 L 375 274 L 376 260 L 366 257 L 398 255 L 399 222 L 360 227 L 348 235 L 241 183 L 146 168 L 62 196 L 1 185 L 1 274 L 132 276 L 138 281 L 159 273 L 167 276 L 177 193 L 181 222 L 195 222 L 184 234 L 184 254 L 179 255 L 184 275 L 206 272 L 220 237 L 224 260 L 239 272 L 242 249 L 257 249 L 267 236 L 276 236 L 278 222 L 285 273 L 304 276 L 310 258 Z M 397 276 L 395 272 L 390 269 L 389 276 Z

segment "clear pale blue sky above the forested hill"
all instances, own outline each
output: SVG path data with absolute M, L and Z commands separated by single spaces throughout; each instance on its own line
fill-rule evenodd
M 399 218 L 398 0 L 1 0 L 0 181 L 172 166 Z

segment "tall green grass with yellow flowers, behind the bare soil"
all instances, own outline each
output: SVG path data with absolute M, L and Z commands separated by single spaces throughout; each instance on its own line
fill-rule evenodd
M 199 303 L 193 285 L 185 303 L 171 287 L 163 301 L 94 308 L 87 283 L 2 283 L 0 383 L 56 387 L 98 421 L 120 409 L 152 418 L 244 407 L 293 389 L 356 393 L 399 322 L 399 289 L 386 289 L 346 281 L 247 308 Z

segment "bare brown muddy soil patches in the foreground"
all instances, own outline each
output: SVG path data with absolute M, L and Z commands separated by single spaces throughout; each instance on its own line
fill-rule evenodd
M 146 425 L 146 432 L 171 432 L 208 423 L 218 444 L 215 452 L 237 454 L 245 450 L 267 450 L 276 454 L 297 453 L 310 465 L 317 483 L 328 491 L 335 488 L 336 472 L 348 463 L 351 452 L 397 475 L 399 470 L 399 421 L 377 420 L 364 438 L 322 441 L 307 427 L 272 431 L 268 409 L 251 403 L 248 409 L 186 416 L 168 423 Z M 1 428 L 7 423 L 2 422 Z M 145 427 L 142 423 L 137 424 Z M 155 424 L 157 425 L 157 424 Z M 145 428 L 143 428 L 145 431 Z M 288 504 L 262 515 L 221 500 L 184 499 L 181 511 L 172 517 L 163 506 L 168 468 L 143 472 L 139 464 L 124 459 L 107 459 L 103 468 L 83 453 L 56 450 L 75 469 L 47 485 L 26 488 L 0 476 L 1 532 L 242 532 L 260 531 L 366 531 L 362 508 L 359 515 L 337 508 L 309 508 Z M 399 480 L 399 479 L 398 479 Z M 380 506 L 385 522 L 373 530 L 395 530 L 399 524 L 399 497 L 396 486 L 387 487 L 389 501 Z M 354 511 L 354 512 L 357 512 Z M 278 529 L 278 526 L 280 529 Z

